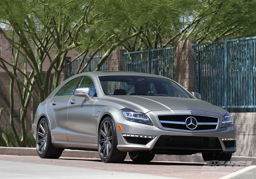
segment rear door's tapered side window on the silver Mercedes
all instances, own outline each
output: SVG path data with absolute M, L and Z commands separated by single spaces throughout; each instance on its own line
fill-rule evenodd
M 56 96 L 72 96 L 80 79 L 81 77 L 78 77 L 69 81 L 57 92 Z

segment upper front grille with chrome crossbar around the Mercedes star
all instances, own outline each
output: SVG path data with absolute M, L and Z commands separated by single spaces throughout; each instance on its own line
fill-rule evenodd
M 203 130 L 215 130 L 219 119 L 209 116 L 197 116 L 197 115 L 159 115 L 158 120 L 163 128 L 188 130 L 188 131 L 203 131 Z M 197 128 L 187 128 L 185 121 L 188 117 L 194 117 L 197 120 Z

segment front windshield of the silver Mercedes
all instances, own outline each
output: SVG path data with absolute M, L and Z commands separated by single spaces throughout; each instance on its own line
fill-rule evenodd
M 191 98 L 190 95 L 170 79 L 113 75 L 99 76 L 106 95 L 151 95 Z

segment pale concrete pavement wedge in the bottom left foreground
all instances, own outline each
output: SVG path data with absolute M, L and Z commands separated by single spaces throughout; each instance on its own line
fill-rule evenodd
M 4 179 L 182 179 L 121 171 L 13 161 L 0 162 L 0 176 Z

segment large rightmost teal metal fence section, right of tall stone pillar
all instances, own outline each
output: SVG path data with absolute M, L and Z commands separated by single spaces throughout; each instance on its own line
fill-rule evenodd
M 193 44 L 195 91 L 230 112 L 256 112 L 256 37 Z

